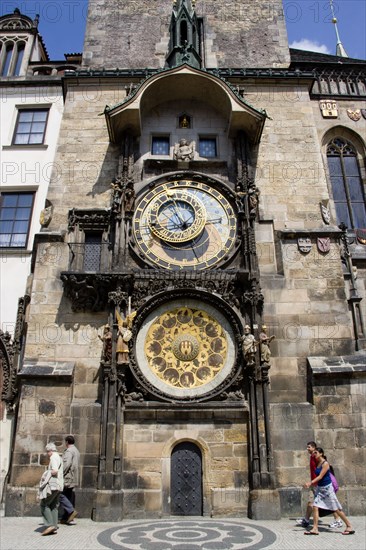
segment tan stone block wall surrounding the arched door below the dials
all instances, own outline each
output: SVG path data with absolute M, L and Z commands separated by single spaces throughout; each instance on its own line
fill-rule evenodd
M 125 517 L 170 514 L 170 457 L 180 441 L 193 441 L 202 453 L 204 515 L 246 515 L 248 413 L 238 407 L 164 409 L 127 408 Z

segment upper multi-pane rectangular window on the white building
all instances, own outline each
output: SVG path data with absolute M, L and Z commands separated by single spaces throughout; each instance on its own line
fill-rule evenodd
M 22 109 L 18 113 L 13 144 L 33 145 L 44 141 L 48 109 Z

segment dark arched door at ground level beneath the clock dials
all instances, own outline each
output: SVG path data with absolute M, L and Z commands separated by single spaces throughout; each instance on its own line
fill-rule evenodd
M 176 445 L 171 459 L 171 514 L 202 516 L 202 454 L 190 441 Z

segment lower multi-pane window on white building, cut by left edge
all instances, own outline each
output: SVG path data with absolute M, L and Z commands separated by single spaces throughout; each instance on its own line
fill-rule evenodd
M 25 248 L 34 193 L 2 193 L 0 197 L 0 247 Z

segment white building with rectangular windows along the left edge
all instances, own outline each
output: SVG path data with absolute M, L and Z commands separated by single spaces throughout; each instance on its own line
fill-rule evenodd
M 66 68 L 75 64 L 50 63 L 38 16 L 32 20 L 16 9 L 0 17 L 0 491 L 9 467 L 14 374 L 25 331 L 32 249 L 52 215 L 52 208 L 45 210 L 46 195 L 57 170 Z

